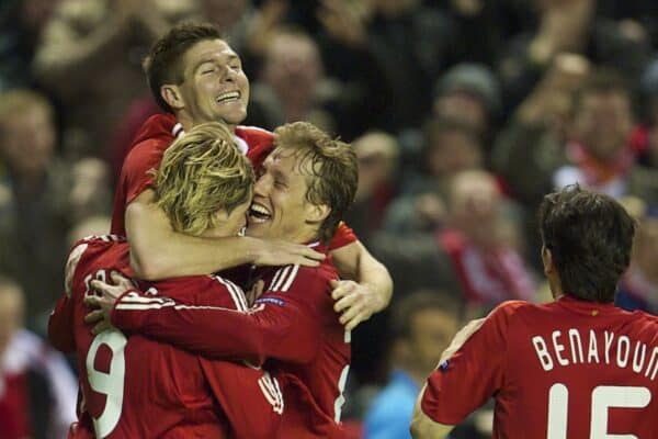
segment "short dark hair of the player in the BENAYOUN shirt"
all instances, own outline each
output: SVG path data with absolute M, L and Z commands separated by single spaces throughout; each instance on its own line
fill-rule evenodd
M 611 196 L 578 184 L 544 196 L 538 216 L 564 293 L 612 302 L 631 261 L 635 219 Z

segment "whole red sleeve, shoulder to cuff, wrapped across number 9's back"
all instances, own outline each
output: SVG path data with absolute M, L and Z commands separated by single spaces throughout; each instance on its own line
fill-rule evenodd
M 319 295 L 328 297 L 330 286 L 318 270 L 294 266 L 292 272 L 285 274 L 290 282 L 279 282 L 247 313 L 169 297 L 151 297 L 152 306 L 145 306 L 145 297 L 131 291 L 114 305 L 112 323 L 207 358 L 307 362 L 316 354 L 322 325 Z

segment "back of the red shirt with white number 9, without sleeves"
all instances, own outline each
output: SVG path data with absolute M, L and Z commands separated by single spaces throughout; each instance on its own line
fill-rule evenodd
M 77 259 L 77 261 L 76 261 Z M 118 330 L 97 336 L 84 325 L 82 303 L 92 279 L 109 279 L 111 270 L 126 275 L 128 246 L 114 236 L 80 241 L 71 251 L 73 331 L 83 395 L 80 436 L 91 428 L 107 438 L 224 437 L 215 399 L 207 389 L 200 360 L 145 337 Z M 166 293 L 184 301 L 190 289 L 170 282 Z M 152 301 L 158 292 L 154 289 Z M 139 306 L 139 305 L 137 305 Z M 93 425 L 93 427 L 92 427 Z

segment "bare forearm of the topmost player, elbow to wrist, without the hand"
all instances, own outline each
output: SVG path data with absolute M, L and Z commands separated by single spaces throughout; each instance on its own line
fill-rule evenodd
M 131 203 L 126 211 L 131 266 L 146 280 L 207 274 L 248 263 L 257 241 L 248 237 L 198 238 L 171 228 L 152 203 Z

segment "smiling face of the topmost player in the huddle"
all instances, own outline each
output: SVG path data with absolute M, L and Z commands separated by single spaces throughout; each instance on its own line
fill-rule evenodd
M 181 122 L 224 121 L 230 126 L 247 116 L 249 80 L 238 55 L 223 40 L 205 40 L 183 57 L 183 82 L 164 86 L 166 99 Z M 183 123 L 184 125 L 184 123 Z

